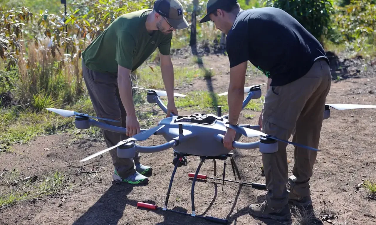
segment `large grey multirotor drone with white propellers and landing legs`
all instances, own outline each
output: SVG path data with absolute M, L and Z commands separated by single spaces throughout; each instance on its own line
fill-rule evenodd
M 266 84 L 266 83 L 265 83 Z M 244 88 L 244 93 L 247 94 L 247 97 L 243 100 L 242 109 L 249 103 L 251 99 L 259 99 L 261 97 L 261 88 L 260 85 L 253 85 L 250 87 Z M 146 99 L 149 103 L 156 103 L 165 113 L 167 113 L 167 108 L 162 102 L 160 96 L 167 96 L 166 91 L 161 90 L 152 90 L 133 87 L 137 89 L 147 90 Z M 221 93 L 218 95 L 226 95 L 227 92 Z M 185 97 L 185 95 L 174 93 L 174 96 Z M 324 110 L 324 118 L 327 119 L 330 117 L 330 109 L 359 109 L 359 108 L 376 108 L 375 105 L 355 105 L 355 104 L 326 104 Z M 108 125 L 106 123 L 99 122 L 94 119 L 99 120 L 110 120 L 106 118 L 89 116 L 84 113 L 77 113 L 74 111 L 69 111 L 65 109 L 55 109 L 47 108 L 49 111 L 60 114 L 61 116 L 70 117 L 75 116 L 75 126 L 78 129 L 88 129 L 91 126 L 96 126 L 101 129 L 108 131 L 126 133 L 126 128 Z M 91 119 L 94 118 L 94 119 Z M 206 220 L 218 223 L 227 223 L 226 219 L 221 219 L 211 216 L 201 216 L 197 215 L 194 207 L 194 186 L 197 178 L 200 179 L 218 179 L 222 181 L 222 190 L 224 181 L 237 182 L 240 184 L 248 184 L 254 188 L 266 190 L 265 184 L 259 183 L 246 183 L 241 180 L 240 173 L 238 168 L 233 160 L 232 153 L 223 146 L 223 137 L 226 134 L 227 128 L 232 128 L 236 131 L 235 140 L 233 141 L 232 146 L 237 149 L 256 149 L 258 148 L 261 153 L 273 153 L 278 150 L 277 141 L 283 141 L 285 143 L 293 144 L 295 146 L 304 147 L 312 151 L 318 151 L 318 149 L 305 146 L 298 143 L 293 143 L 287 140 L 281 140 L 277 137 L 265 134 L 259 131 L 258 125 L 230 125 L 227 123 L 228 115 L 221 115 L 221 108 L 218 106 L 217 115 L 214 114 L 205 114 L 205 113 L 195 113 L 189 116 L 178 116 L 171 114 L 170 117 L 164 118 L 158 122 L 158 125 L 149 128 L 141 129 L 139 134 L 133 135 L 133 137 L 127 138 L 126 140 L 120 141 L 115 146 L 109 147 L 103 151 L 92 154 L 80 162 L 90 160 L 91 158 L 97 157 L 105 152 L 110 151 L 111 149 L 117 148 L 117 155 L 120 158 L 133 158 L 135 157 L 136 152 L 142 153 L 152 153 L 160 152 L 170 148 L 173 148 L 174 151 L 174 170 L 171 175 L 170 185 L 167 190 L 167 196 L 165 200 L 164 207 L 158 207 L 157 205 L 148 204 L 144 202 L 138 202 L 138 207 L 144 207 L 149 209 L 162 209 L 164 211 L 173 211 L 176 213 L 187 214 L 194 217 L 204 218 Z M 110 120 L 114 121 L 114 120 Z M 164 144 L 158 146 L 140 146 L 136 141 L 143 141 L 149 138 L 151 135 L 162 135 L 167 141 Z M 253 141 L 249 143 L 239 142 L 240 137 L 244 135 L 246 137 L 260 137 L 258 141 Z M 198 156 L 200 157 L 200 164 L 197 167 L 196 173 L 189 173 L 188 176 L 193 177 L 192 189 L 191 189 L 191 203 L 192 203 L 192 213 L 184 213 L 180 211 L 167 209 L 168 198 L 170 196 L 171 186 L 173 178 L 176 172 L 177 167 L 182 165 L 187 165 L 186 157 L 187 156 Z M 233 174 L 235 176 L 235 181 L 224 179 L 224 173 L 226 169 L 226 160 L 230 158 Z M 208 177 L 206 175 L 199 174 L 199 170 L 205 160 L 212 159 L 214 163 L 214 177 Z M 222 179 L 217 178 L 217 166 L 215 160 L 224 160 L 223 167 L 223 176 Z M 238 176 L 238 181 L 236 180 L 235 171 Z

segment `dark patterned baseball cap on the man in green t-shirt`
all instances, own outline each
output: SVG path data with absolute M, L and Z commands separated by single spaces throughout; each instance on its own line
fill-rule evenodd
M 183 6 L 178 0 L 156 0 L 153 9 L 177 30 L 189 26 L 183 15 Z

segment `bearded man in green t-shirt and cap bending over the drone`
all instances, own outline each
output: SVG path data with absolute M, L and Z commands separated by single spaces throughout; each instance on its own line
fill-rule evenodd
M 162 79 L 167 91 L 167 116 L 177 113 L 174 103 L 174 71 L 170 57 L 173 30 L 184 29 L 178 0 L 156 0 L 151 9 L 121 15 L 115 19 L 82 53 L 82 71 L 86 87 L 98 117 L 118 120 L 103 122 L 126 127 L 126 134 L 102 129 L 108 147 L 140 132 L 133 104 L 130 73 L 158 48 Z M 133 159 L 119 158 L 116 148 L 110 151 L 115 181 L 139 184 L 147 182 L 143 174 L 152 168 Z

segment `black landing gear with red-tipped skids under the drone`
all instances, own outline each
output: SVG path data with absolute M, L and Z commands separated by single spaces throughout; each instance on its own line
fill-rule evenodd
M 157 205 L 153 205 L 153 204 L 149 204 L 149 203 L 145 203 L 145 202 L 137 202 L 138 207 L 148 208 L 148 209 L 152 209 L 152 210 L 158 209 L 158 210 L 164 210 L 164 211 L 171 211 L 171 212 L 174 212 L 174 213 L 180 213 L 180 214 L 190 215 L 190 216 L 194 216 L 194 217 L 199 217 L 199 218 L 202 218 L 202 219 L 209 220 L 211 222 L 227 224 L 228 223 L 227 219 L 221 219 L 221 218 L 212 217 L 212 216 L 200 216 L 200 215 L 196 214 L 196 210 L 195 210 L 195 207 L 194 207 L 194 186 L 196 184 L 197 178 L 199 178 L 199 179 L 221 180 L 222 181 L 222 190 L 223 190 L 224 181 L 235 182 L 235 183 L 239 183 L 241 185 L 243 185 L 243 184 L 251 185 L 251 187 L 253 187 L 253 188 L 266 190 L 265 184 L 259 184 L 259 183 L 254 183 L 254 182 L 247 183 L 247 182 L 242 181 L 238 167 L 235 163 L 235 160 L 232 157 L 233 153 L 219 155 L 219 156 L 216 156 L 216 157 L 194 155 L 194 156 L 200 157 L 200 164 L 197 167 L 196 173 L 189 173 L 188 174 L 188 176 L 193 177 L 192 189 L 191 189 L 192 213 L 190 214 L 190 213 L 180 212 L 180 211 L 176 211 L 176 210 L 170 210 L 170 209 L 167 208 L 167 204 L 168 204 L 168 198 L 170 197 L 170 191 L 171 191 L 173 179 L 174 179 L 174 176 L 175 176 L 175 173 L 176 173 L 176 169 L 177 169 L 177 167 L 180 167 L 182 165 L 185 165 L 185 166 L 187 165 L 185 157 L 189 156 L 190 154 L 179 154 L 179 153 L 174 152 L 174 155 L 176 156 L 176 158 L 173 161 L 173 163 L 175 164 L 175 167 L 174 167 L 174 170 L 173 170 L 172 175 L 171 175 L 170 185 L 168 186 L 164 207 L 163 208 L 158 207 Z M 230 163 L 231 163 L 232 171 L 233 171 L 233 174 L 234 174 L 234 177 L 235 177 L 235 181 L 224 179 L 224 174 L 226 172 L 226 161 L 228 160 L 228 158 L 230 158 Z M 205 160 L 209 160 L 209 159 L 212 159 L 213 163 L 214 163 L 214 177 L 208 177 L 206 175 L 199 174 L 199 171 L 201 169 L 202 164 L 204 163 Z M 224 161 L 222 179 L 217 178 L 217 163 L 216 163 L 215 160 L 223 160 Z M 238 181 L 237 181 L 237 176 L 238 176 Z

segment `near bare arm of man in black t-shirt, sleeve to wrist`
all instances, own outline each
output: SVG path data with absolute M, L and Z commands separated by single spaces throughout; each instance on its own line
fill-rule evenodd
M 227 94 L 229 104 L 229 123 L 236 125 L 244 100 L 247 61 L 230 68 L 230 85 Z

